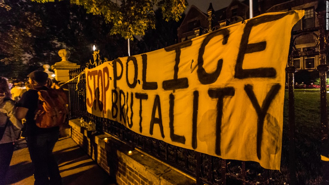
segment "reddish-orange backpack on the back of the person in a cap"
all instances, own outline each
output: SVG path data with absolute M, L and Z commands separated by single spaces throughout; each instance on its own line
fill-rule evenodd
M 39 102 L 34 120 L 40 128 L 61 126 L 66 122 L 67 98 L 62 89 L 39 90 Z

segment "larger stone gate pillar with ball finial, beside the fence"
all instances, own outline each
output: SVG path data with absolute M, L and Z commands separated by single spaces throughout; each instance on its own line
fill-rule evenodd
M 71 53 L 66 49 L 61 49 L 58 52 L 58 55 L 62 58 L 62 61 L 56 62 L 54 65 L 51 66 L 51 69 L 55 71 L 55 79 L 57 81 L 66 82 L 70 80 L 69 77 L 69 70 L 79 68 L 80 65 L 76 63 L 68 61 Z

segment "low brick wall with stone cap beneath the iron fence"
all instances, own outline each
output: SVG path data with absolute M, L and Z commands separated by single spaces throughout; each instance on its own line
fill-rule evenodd
M 72 139 L 118 185 L 195 184 L 195 179 L 123 143 L 111 135 L 93 135 L 80 127 L 80 119 L 69 121 Z M 105 139 L 106 138 L 106 139 Z M 132 151 L 132 153 L 128 153 Z

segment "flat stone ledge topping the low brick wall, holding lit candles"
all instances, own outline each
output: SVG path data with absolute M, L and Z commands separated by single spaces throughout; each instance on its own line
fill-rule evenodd
M 116 150 L 117 159 L 126 163 L 127 166 L 137 171 L 140 175 L 147 178 L 153 184 L 157 185 L 190 185 L 196 184 L 195 179 L 183 174 L 168 164 L 155 159 L 154 157 L 134 149 L 129 143 L 119 141 L 112 135 L 101 134 L 92 135 L 91 131 L 80 126 L 80 119 L 69 121 L 72 129 L 78 130 L 91 142 L 104 148 L 107 152 Z M 107 138 L 106 140 L 104 140 Z M 128 152 L 132 151 L 131 154 Z

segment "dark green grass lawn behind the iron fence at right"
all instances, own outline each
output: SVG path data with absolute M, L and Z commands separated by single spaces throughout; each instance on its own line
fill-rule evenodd
M 328 93 L 329 94 L 329 93 Z M 321 184 L 320 91 L 295 90 L 295 156 L 297 184 Z M 285 93 L 281 176 L 289 164 L 288 91 Z

